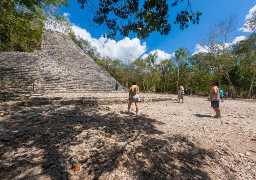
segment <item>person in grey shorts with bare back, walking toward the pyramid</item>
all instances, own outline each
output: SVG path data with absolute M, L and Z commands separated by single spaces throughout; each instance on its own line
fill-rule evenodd
M 135 102 L 135 107 L 136 107 L 136 115 L 138 115 L 138 102 L 140 100 L 140 96 L 138 95 L 140 93 L 139 87 L 136 85 L 136 82 L 132 82 L 132 87 L 130 88 L 129 91 L 129 103 L 128 103 L 128 110 L 127 113 L 130 112 L 131 104 Z

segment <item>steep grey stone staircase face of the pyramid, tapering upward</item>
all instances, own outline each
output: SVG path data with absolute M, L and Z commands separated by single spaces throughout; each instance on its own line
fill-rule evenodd
M 116 80 L 72 40 L 50 30 L 45 36 L 39 52 L 36 92 L 114 91 Z

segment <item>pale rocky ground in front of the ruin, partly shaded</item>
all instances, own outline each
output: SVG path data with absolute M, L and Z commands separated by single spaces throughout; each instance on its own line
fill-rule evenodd
M 126 108 L 2 107 L 1 179 L 256 179 L 256 101 Z

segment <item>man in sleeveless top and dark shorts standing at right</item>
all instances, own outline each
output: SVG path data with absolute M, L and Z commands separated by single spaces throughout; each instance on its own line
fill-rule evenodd
M 216 81 L 213 81 L 211 83 L 212 89 L 210 91 L 210 101 L 211 101 L 211 107 L 216 112 L 214 118 L 222 118 L 220 115 L 220 109 L 219 109 L 219 88 L 217 87 L 218 83 Z

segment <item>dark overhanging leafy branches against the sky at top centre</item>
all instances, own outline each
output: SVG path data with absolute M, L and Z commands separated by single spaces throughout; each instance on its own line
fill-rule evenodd
M 179 0 L 172 0 L 171 6 L 176 6 L 178 2 Z M 177 13 L 174 22 L 182 30 L 188 27 L 190 21 L 198 24 L 201 16 L 199 12 L 194 13 L 189 0 L 187 2 L 186 8 Z M 86 10 L 86 16 L 87 9 L 93 13 L 93 22 L 107 27 L 108 38 L 114 39 L 117 31 L 125 37 L 133 32 L 138 38 L 146 39 L 153 31 L 168 35 L 171 30 L 167 0 L 147 0 L 143 4 L 140 0 L 99 0 L 98 5 L 95 1 L 78 0 L 78 3 Z

